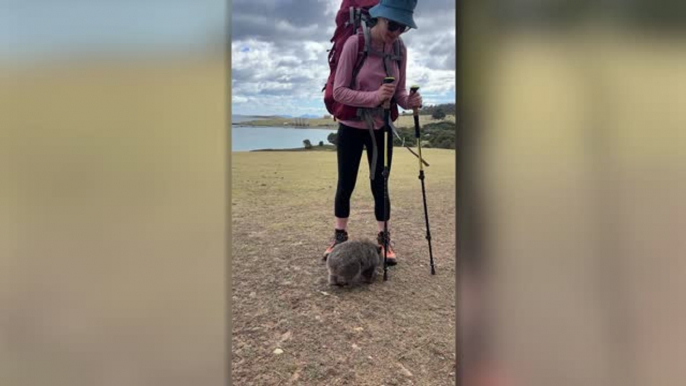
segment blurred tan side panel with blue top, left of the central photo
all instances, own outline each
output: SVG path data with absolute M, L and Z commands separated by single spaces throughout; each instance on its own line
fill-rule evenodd
M 225 384 L 226 4 L 0 9 L 0 384 Z

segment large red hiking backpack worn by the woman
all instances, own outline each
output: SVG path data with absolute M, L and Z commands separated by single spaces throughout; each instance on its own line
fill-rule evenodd
M 326 109 L 334 116 L 334 120 L 354 120 L 358 118 L 357 107 L 347 106 L 336 102 L 333 99 L 333 84 L 336 77 L 336 68 L 338 66 L 338 58 L 341 56 L 341 51 L 343 51 L 343 45 L 346 40 L 352 35 L 357 34 L 358 36 L 358 52 L 357 52 L 357 62 L 353 69 L 353 83 L 355 83 L 355 78 L 357 73 L 362 68 L 364 60 L 367 55 L 383 55 L 382 53 L 376 52 L 370 49 L 371 44 L 366 44 L 369 42 L 369 27 L 367 26 L 369 22 L 369 9 L 379 3 L 379 0 L 342 0 L 341 7 L 336 13 L 336 31 L 331 38 L 333 46 L 329 50 L 329 78 L 326 81 L 326 85 L 322 89 L 324 91 L 324 104 Z M 402 40 L 398 38 L 395 44 L 395 53 L 391 56 L 391 59 L 396 60 L 400 63 L 402 59 Z M 386 74 L 390 75 L 390 69 L 386 69 Z M 352 84 L 350 85 L 352 87 Z M 391 100 L 391 120 L 395 121 L 398 118 L 398 105 L 395 99 Z

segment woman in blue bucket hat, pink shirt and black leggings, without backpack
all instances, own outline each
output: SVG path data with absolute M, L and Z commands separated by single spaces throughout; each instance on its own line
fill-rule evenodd
M 390 231 L 384 233 L 384 221 L 390 229 L 390 198 L 386 201 L 387 213 L 384 213 L 384 180 L 381 177 L 383 159 L 376 159 L 376 147 L 384 146 L 383 115 L 378 109 L 385 100 L 393 98 L 393 104 L 408 110 L 420 107 L 422 98 L 419 93 L 409 94 L 405 89 L 405 69 L 407 51 L 399 39 L 400 35 L 417 28 L 413 20 L 416 0 L 381 0 L 379 4 L 369 9 L 369 37 L 371 50 L 382 52 L 386 56 L 368 55 L 359 69 L 355 69 L 360 52 L 359 44 L 364 44 L 360 36 L 350 36 L 340 52 L 335 80 L 333 83 L 333 99 L 341 105 L 354 106 L 359 110 L 377 109 L 376 114 L 364 119 L 358 117 L 350 119 L 339 118 L 338 140 L 336 144 L 338 158 L 338 186 L 336 189 L 334 215 L 335 233 L 333 243 L 326 249 L 324 258 L 333 247 L 348 240 L 347 226 L 350 215 L 350 198 L 357 181 L 362 158 L 363 147 L 367 150 L 367 161 L 370 165 L 370 183 L 374 196 L 374 215 L 378 224 L 377 242 L 383 247 L 384 238 L 388 240 L 386 251 L 388 265 L 397 264 L 397 257 L 392 248 Z M 394 47 L 400 47 L 398 60 L 389 60 Z M 384 60 L 384 58 L 386 60 Z M 354 71 L 355 70 L 355 71 Z M 356 76 L 353 73 L 357 72 Z M 386 76 L 392 76 L 395 81 L 382 85 Z M 395 116 L 397 118 L 397 106 Z M 395 119 L 395 118 L 394 118 Z M 373 125 L 373 127 L 370 127 Z M 372 136 L 373 133 L 373 136 Z M 392 144 L 392 138 L 391 138 Z M 380 149 L 382 150 L 382 149 Z M 393 149 L 388 146 L 388 167 L 390 171 Z M 384 216 L 385 214 L 385 216 Z

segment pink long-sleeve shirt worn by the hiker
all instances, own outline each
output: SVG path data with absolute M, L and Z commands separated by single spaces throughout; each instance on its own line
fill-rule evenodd
M 354 88 L 350 88 L 353 75 L 353 67 L 357 62 L 358 53 L 358 36 L 353 35 L 343 45 L 343 51 L 338 59 L 338 67 L 336 68 L 336 80 L 333 88 L 333 98 L 338 103 L 354 107 L 375 108 L 379 106 L 376 100 L 376 90 L 381 87 L 383 79 L 386 77 L 384 70 L 383 58 L 372 54 L 367 55 L 362 67 L 357 73 L 357 78 Z M 394 44 L 379 43 L 372 47 L 385 53 L 393 53 Z M 395 77 L 395 99 L 400 107 L 409 109 L 408 98 L 409 94 L 405 90 L 405 68 L 407 65 L 407 49 L 402 50 L 402 60 L 400 66 L 395 60 L 390 60 L 391 74 Z M 398 68 L 399 67 L 399 68 Z M 340 123 L 358 128 L 368 129 L 363 120 L 339 120 Z M 380 129 L 383 127 L 383 117 L 374 117 L 374 128 Z

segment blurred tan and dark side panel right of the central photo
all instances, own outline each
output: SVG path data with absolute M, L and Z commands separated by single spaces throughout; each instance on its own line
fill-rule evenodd
M 463 171 L 478 210 L 461 225 L 481 227 L 481 248 L 466 251 L 481 268 L 463 271 L 461 337 L 476 342 L 463 384 L 682 384 L 683 6 L 503 0 L 474 12 L 466 29 L 488 42 L 462 72 L 479 124 L 465 125 Z

